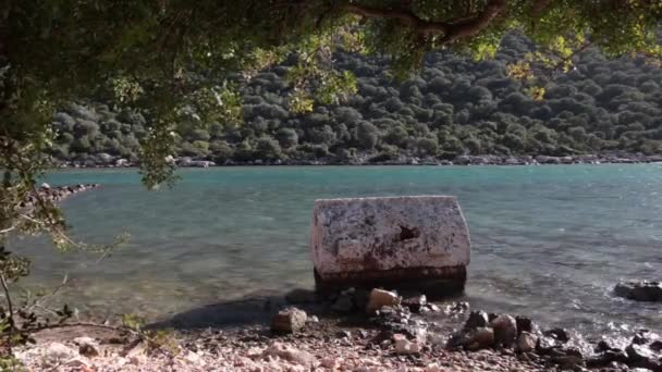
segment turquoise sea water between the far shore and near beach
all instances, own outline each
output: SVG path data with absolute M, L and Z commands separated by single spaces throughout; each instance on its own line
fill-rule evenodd
M 150 193 L 132 170 L 60 171 L 51 185 L 100 183 L 63 202 L 75 237 L 130 243 L 109 259 L 61 255 L 39 239 L 30 284 L 81 309 L 166 319 L 208 303 L 312 287 L 308 230 L 318 198 L 454 195 L 473 240 L 473 308 L 588 332 L 662 330 L 662 305 L 614 298 L 621 280 L 662 280 L 662 164 L 323 166 L 183 170 Z

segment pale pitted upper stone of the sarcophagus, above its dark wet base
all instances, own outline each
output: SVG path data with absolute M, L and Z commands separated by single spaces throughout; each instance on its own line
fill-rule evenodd
M 322 278 L 469 264 L 468 227 L 457 200 L 449 196 L 316 200 L 310 235 Z

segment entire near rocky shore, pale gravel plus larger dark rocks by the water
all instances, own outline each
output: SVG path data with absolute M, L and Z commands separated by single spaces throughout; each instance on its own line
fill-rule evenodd
M 662 337 L 649 330 L 625 342 L 587 339 L 526 317 L 382 289 L 301 289 L 273 305 L 263 305 L 271 322 L 253 325 L 159 324 L 176 330 L 174 351 L 78 328 L 39 335 L 17 357 L 35 371 L 662 371 Z

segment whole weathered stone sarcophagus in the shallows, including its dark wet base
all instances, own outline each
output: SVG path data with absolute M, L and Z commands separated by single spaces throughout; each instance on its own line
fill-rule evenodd
M 318 290 L 350 286 L 464 289 L 470 241 L 454 197 L 315 201 L 310 236 Z

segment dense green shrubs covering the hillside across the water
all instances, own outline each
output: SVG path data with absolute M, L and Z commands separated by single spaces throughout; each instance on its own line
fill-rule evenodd
M 244 124 L 210 123 L 180 133 L 177 156 L 222 164 L 662 153 L 659 66 L 642 59 L 609 60 L 588 49 L 536 101 L 506 73 L 508 63 L 534 49 L 525 38 L 510 35 L 495 60 L 429 53 L 422 70 L 406 82 L 391 76 L 385 58 L 339 52 L 335 66 L 356 75 L 358 92 L 305 114 L 287 109 L 286 74 L 293 61 L 248 80 L 237 74 Z M 53 121 L 54 158 L 85 165 L 136 162 L 147 126 L 139 113 L 115 112 L 102 103 L 71 104 Z

